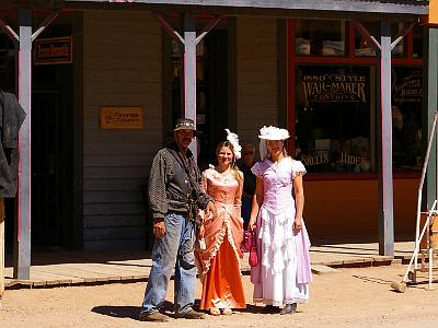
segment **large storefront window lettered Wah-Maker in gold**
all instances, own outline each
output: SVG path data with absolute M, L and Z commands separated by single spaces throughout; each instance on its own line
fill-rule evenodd
M 371 68 L 296 68 L 296 157 L 309 172 L 373 171 Z

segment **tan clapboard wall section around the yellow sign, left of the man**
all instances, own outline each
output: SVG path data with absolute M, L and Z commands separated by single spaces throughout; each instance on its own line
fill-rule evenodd
M 161 27 L 145 12 L 83 19 L 83 244 L 145 245 L 140 185 L 162 141 Z M 101 130 L 100 107 L 141 106 L 145 130 Z

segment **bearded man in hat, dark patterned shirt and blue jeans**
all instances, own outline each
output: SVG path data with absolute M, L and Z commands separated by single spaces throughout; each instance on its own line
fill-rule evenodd
M 188 145 L 198 134 L 192 119 L 176 120 L 174 142 L 153 159 L 149 176 L 149 202 L 155 242 L 152 269 L 139 319 L 168 321 L 160 313 L 169 280 L 175 270 L 174 309 L 176 318 L 204 319 L 193 309 L 196 265 L 194 257 L 197 208 L 216 212 L 211 198 L 200 190 L 200 173 Z

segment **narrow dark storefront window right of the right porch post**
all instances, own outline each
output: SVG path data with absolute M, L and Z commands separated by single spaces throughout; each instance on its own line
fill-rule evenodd
M 392 70 L 392 145 L 394 169 L 419 169 L 422 160 L 420 68 Z

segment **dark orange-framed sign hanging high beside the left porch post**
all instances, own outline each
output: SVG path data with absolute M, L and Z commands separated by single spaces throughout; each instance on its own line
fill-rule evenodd
M 71 36 L 41 38 L 34 43 L 34 63 L 55 65 L 73 61 Z

